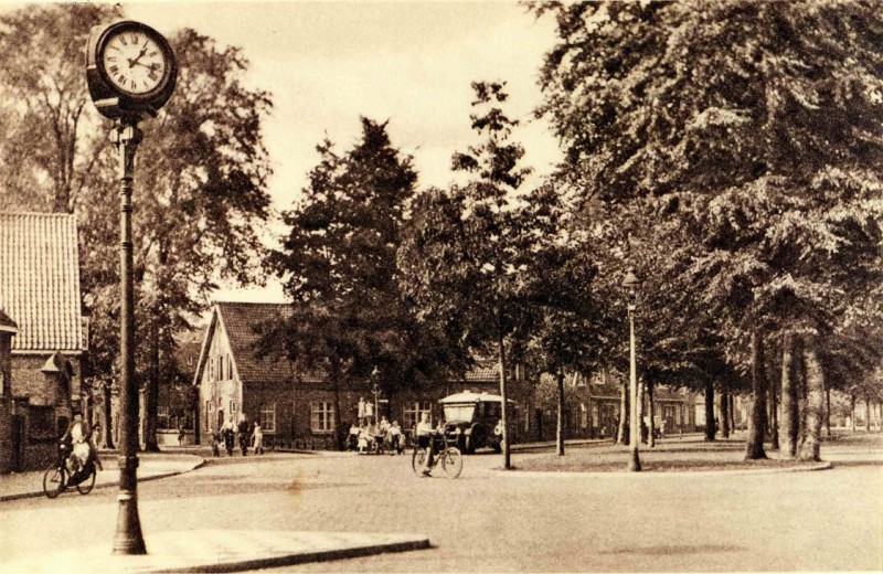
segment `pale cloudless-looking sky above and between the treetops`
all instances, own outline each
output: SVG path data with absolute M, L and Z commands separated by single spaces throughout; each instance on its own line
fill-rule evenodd
M 172 34 L 189 26 L 243 50 L 247 82 L 272 93 L 264 124 L 276 210 L 290 209 L 317 163 L 325 137 L 339 151 L 355 144 L 360 116 L 389 120 L 393 145 L 414 157 L 418 187 L 447 185 L 450 157 L 475 144 L 474 81 L 506 81 L 522 121 L 515 137 L 535 178 L 558 148 L 534 120 L 543 54 L 554 20 L 536 21 L 517 2 L 123 2 L 127 18 Z M 219 300 L 283 300 L 281 288 L 224 288 Z

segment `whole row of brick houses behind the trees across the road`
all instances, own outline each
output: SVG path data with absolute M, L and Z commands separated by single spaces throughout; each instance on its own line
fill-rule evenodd
M 248 421 L 260 422 L 270 445 L 331 448 L 336 425 L 347 428 L 357 421 L 360 400 L 377 398 L 379 414 L 398 421 L 407 431 L 416 425 L 422 413 L 427 413 L 432 421 L 440 417 L 438 402 L 447 395 L 499 390 L 496 363 L 479 364 L 460 379 L 400 390 L 391 396 L 374 397 L 372 382 L 365 381 L 339 392 L 341 421 L 338 422 L 334 393 L 325 376 L 298 372 L 285 359 L 259 358 L 254 352 L 259 327 L 289 312 L 286 304 L 214 305 L 193 376 L 199 391 L 193 437 L 196 443 L 206 444 L 225 422 L 235 424 L 244 415 Z M 508 394 L 514 401 L 513 440 L 551 438 L 557 414 L 539 396 L 541 381 L 525 376 L 519 366 L 508 373 Z M 605 373 L 591 380 L 571 380 L 565 412 L 567 436 L 611 436 L 619 418 L 621 383 Z M 666 421 L 667 429 L 677 433 L 695 428 L 695 395 L 660 389 L 655 401 L 658 418 Z M 169 408 L 173 406 L 170 404 Z

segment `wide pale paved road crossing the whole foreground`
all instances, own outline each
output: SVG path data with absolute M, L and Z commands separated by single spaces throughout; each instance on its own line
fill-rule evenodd
M 510 478 L 492 455 L 467 457 L 457 480 L 415 478 L 407 457 L 220 459 L 141 485 L 140 513 L 148 550 L 151 532 L 227 528 L 414 532 L 435 546 L 305 571 L 881 571 L 883 457 L 838 448 L 833 470 L 703 477 Z M 73 546 L 72 524 L 109 548 L 115 497 L 2 503 L 3 560 Z

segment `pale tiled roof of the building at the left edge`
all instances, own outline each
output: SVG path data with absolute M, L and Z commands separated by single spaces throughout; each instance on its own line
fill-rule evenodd
M 0 307 L 12 351 L 82 351 L 76 216 L 0 213 Z

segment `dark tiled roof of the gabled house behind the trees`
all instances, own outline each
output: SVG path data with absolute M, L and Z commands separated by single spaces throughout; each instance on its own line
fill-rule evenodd
M 227 332 L 236 372 L 243 382 L 290 383 L 295 379 L 291 363 L 274 357 L 256 358 L 254 346 L 259 334 L 256 328 L 272 319 L 291 316 L 288 304 L 219 302 L 221 323 Z M 321 375 L 309 373 L 301 381 L 319 382 Z

